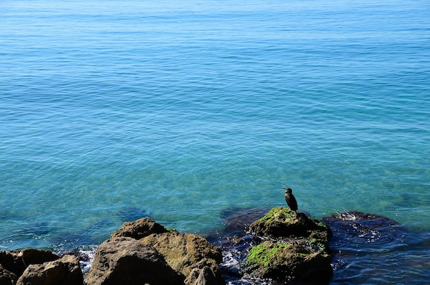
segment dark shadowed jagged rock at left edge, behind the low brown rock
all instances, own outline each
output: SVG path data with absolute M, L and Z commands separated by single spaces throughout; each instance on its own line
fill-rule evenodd
M 58 258 L 60 258 L 58 255 L 43 249 L 0 251 L 0 264 L 16 276 L 21 276 L 30 264 L 42 264 Z

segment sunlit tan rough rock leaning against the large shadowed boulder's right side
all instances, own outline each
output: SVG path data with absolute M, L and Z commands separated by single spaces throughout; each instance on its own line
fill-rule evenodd
M 225 284 L 219 271 L 223 255 L 205 238 L 192 233 L 155 233 L 140 240 L 163 254 L 166 262 L 187 279 L 185 284 Z M 207 270 L 210 270 L 209 273 Z M 203 281 L 207 277 L 207 280 Z

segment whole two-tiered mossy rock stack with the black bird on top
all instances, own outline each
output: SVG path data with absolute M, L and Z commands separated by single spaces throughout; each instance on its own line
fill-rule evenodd
M 291 209 L 275 207 L 250 229 L 266 240 L 252 247 L 245 259 L 244 272 L 251 277 L 323 282 L 332 276 L 328 225 L 304 213 L 295 217 Z

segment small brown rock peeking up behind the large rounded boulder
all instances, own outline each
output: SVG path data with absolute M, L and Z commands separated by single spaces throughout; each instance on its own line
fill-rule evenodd
M 117 229 L 111 234 L 111 238 L 126 236 L 139 240 L 151 233 L 166 233 L 168 230 L 162 225 L 155 223 L 150 218 L 141 218 L 134 222 L 125 222 L 120 229 Z

